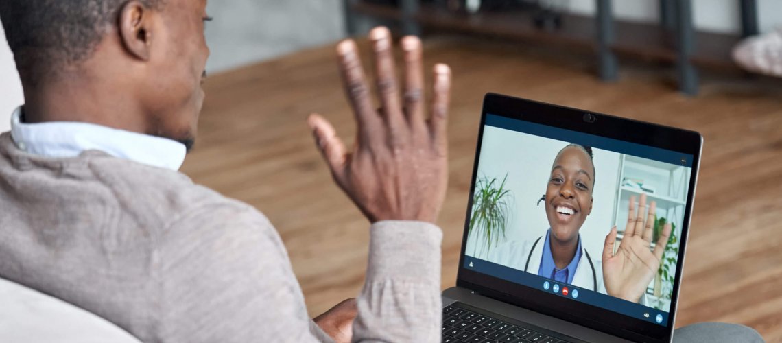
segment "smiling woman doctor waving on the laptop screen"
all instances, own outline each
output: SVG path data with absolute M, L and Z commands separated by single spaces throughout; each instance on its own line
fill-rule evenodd
M 670 224 L 665 225 L 652 251 L 656 204 L 651 202 L 644 216 L 646 195 L 640 196 L 638 205 L 631 197 L 627 227 L 616 253 L 616 227 L 605 237 L 602 252 L 587 252 L 581 245 L 579 230 L 592 212 L 592 157 L 589 147 L 572 144 L 563 148 L 551 166 L 546 194 L 538 202 L 545 202 L 550 229 L 536 241 L 509 241 L 498 246 L 489 260 L 645 305 L 643 295 L 660 266 L 671 233 Z M 594 259 L 599 256 L 601 260 Z

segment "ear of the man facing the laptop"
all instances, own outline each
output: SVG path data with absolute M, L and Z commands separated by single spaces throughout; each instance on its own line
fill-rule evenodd
M 120 10 L 120 39 L 125 50 L 137 59 L 149 61 L 152 46 L 152 10 L 136 0 Z

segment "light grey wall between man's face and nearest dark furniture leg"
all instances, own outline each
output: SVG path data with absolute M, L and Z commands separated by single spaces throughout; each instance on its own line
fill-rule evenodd
M 343 38 L 342 0 L 209 2 L 207 69 L 228 70 Z

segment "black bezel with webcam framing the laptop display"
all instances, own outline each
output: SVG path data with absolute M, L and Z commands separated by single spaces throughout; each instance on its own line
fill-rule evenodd
M 583 302 L 574 302 L 568 298 L 554 295 L 547 291 L 529 288 L 508 280 L 478 273 L 465 268 L 465 249 L 467 248 L 469 219 L 472 215 L 472 199 L 475 191 L 475 180 L 478 174 L 479 159 L 486 127 L 486 115 L 493 114 L 516 120 L 525 120 L 565 130 L 594 134 L 605 138 L 629 141 L 655 148 L 664 148 L 675 152 L 692 155 L 692 170 L 690 191 L 684 210 L 684 220 L 680 237 L 679 259 L 676 267 L 676 277 L 673 282 L 673 293 L 668 316 L 668 325 L 661 326 L 649 323 L 608 309 L 602 309 Z M 585 114 L 592 114 L 597 120 L 587 123 Z M 698 180 L 698 167 L 701 159 L 703 138 L 698 132 L 674 127 L 665 127 L 654 123 L 644 123 L 617 116 L 572 109 L 543 102 L 513 98 L 507 95 L 489 93 L 484 98 L 478 144 L 475 149 L 475 163 L 472 171 L 472 183 L 468 198 L 465 230 L 461 244 L 461 255 L 457 273 L 457 286 L 468 288 L 481 295 L 497 298 L 503 302 L 518 305 L 526 309 L 544 313 L 550 316 L 568 320 L 572 323 L 601 330 L 633 341 L 668 342 L 673 334 L 673 323 L 676 320 L 676 307 L 679 300 L 681 273 L 684 264 L 684 252 L 687 246 L 687 234 L 690 227 L 691 211 L 695 195 L 695 184 Z

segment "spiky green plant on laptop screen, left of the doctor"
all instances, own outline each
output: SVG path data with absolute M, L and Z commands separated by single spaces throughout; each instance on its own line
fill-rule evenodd
M 505 238 L 505 230 L 511 215 L 513 195 L 505 188 L 508 174 L 500 183 L 497 178 L 480 177 L 475 184 L 472 198 L 472 216 L 468 228 L 468 237 L 475 234 L 472 255 L 488 255 L 492 245 Z M 479 250 L 480 248 L 480 250 Z M 476 253 L 478 255 L 476 255 Z

